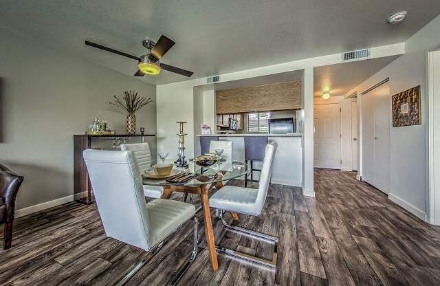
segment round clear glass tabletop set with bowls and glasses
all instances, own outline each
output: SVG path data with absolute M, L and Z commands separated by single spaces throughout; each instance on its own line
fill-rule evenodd
M 204 184 L 215 184 L 221 181 L 228 181 L 248 174 L 248 165 L 238 161 L 226 161 L 214 164 L 210 167 L 197 166 L 194 162 L 188 162 L 187 168 L 174 166 L 173 170 L 181 173 L 190 173 L 192 179 L 184 183 L 167 181 L 167 179 L 148 179 L 142 176 L 142 184 L 148 186 L 188 186 L 198 187 Z

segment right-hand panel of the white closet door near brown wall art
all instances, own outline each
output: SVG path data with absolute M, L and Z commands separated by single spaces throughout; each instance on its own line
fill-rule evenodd
M 375 103 L 375 155 L 374 186 L 387 194 L 390 192 L 390 87 L 384 83 L 373 89 Z

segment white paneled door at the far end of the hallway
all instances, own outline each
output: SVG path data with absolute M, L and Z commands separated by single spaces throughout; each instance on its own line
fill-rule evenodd
M 317 168 L 341 168 L 340 103 L 314 107 L 314 163 Z

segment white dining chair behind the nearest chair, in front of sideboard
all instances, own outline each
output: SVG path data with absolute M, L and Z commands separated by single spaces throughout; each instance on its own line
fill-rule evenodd
M 133 143 L 133 144 L 121 144 L 121 151 L 133 151 L 135 154 L 137 166 L 139 166 L 140 173 L 145 173 L 146 170 L 151 169 L 153 159 L 151 157 L 150 145 L 148 143 Z M 162 197 L 164 188 L 161 186 L 146 186 L 144 185 L 145 197 L 151 197 L 157 199 Z

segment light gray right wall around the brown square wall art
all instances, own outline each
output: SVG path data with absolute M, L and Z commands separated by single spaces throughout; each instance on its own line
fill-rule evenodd
M 390 199 L 421 218 L 429 212 L 426 53 L 439 44 L 440 16 L 406 41 L 404 55 L 355 89 L 360 93 L 388 77 L 391 95 L 417 85 L 421 86 L 421 125 L 390 128 L 391 194 L 389 195 Z

